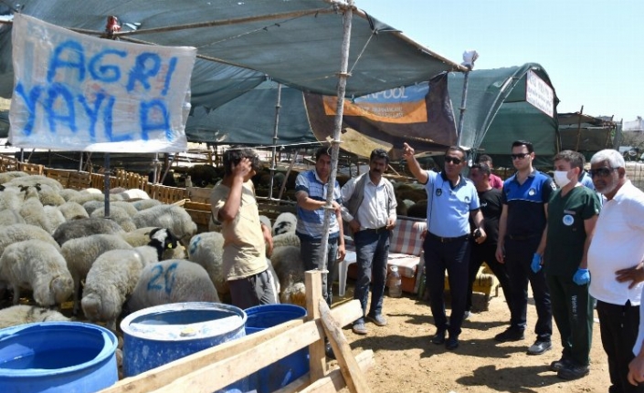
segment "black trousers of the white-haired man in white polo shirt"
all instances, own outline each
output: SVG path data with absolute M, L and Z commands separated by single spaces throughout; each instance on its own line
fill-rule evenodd
M 628 363 L 635 357 L 633 346 L 638 338 L 639 305 L 612 305 L 597 300 L 601 343 L 608 356 L 609 393 L 644 393 L 644 386 L 628 382 Z

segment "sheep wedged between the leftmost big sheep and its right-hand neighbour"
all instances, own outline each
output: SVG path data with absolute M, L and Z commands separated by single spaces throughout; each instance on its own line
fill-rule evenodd
M 60 247 L 60 253 L 67 261 L 69 274 L 74 280 L 74 315 L 79 312 L 80 283 L 87 277 L 94 261 L 107 251 L 129 249 L 132 249 L 132 245 L 125 242 L 121 236 L 105 233 L 70 239 Z

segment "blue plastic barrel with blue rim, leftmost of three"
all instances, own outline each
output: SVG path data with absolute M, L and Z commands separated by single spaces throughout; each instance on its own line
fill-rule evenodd
M 110 330 L 46 322 L 0 330 L 0 391 L 93 393 L 119 380 Z

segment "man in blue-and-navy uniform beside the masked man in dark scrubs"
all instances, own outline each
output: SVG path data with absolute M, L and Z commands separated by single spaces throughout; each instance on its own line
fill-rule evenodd
M 551 349 L 553 313 L 550 293 L 540 265 L 545 247 L 545 228 L 550 194 L 556 189 L 553 180 L 533 168 L 533 144 L 526 140 L 512 142 L 512 164 L 517 172 L 503 183 L 503 209 L 499 220 L 499 243 L 496 259 L 506 264 L 511 282 L 510 327 L 494 337 L 500 342 L 523 340 L 527 322 L 528 282 L 533 288 L 537 323 L 536 341 L 529 355 L 541 355 Z

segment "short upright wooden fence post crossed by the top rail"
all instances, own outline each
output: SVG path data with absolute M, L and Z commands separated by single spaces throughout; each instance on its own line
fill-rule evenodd
M 306 285 L 306 319 L 312 321 L 320 318 L 320 300 L 322 300 L 322 272 L 310 270 L 305 273 Z M 324 336 L 324 329 L 320 327 L 320 336 Z M 318 340 L 309 346 L 309 367 L 311 381 L 326 376 L 326 353 L 324 340 Z

